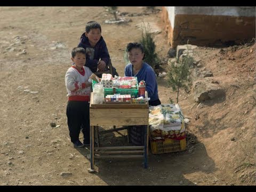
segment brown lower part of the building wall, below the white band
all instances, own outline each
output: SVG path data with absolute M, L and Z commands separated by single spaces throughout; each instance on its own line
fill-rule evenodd
M 175 14 L 174 26 L 163 7 L 162 19 L 171 47 L 179 44 L 228 46 L 255 38 L 255 17 L 230 15 Z

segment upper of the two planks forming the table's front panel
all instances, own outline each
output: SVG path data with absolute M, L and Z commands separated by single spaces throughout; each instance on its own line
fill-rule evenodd
M 148 117 L 148 109 L 90 109 L 91 118 Z

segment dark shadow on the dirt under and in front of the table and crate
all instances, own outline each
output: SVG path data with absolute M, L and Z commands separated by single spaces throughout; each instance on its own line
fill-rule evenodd
M 120 131 L 123 134 L 125 131 Z M 100 136 L 102 145 L 130 145 L 126 137 L 119 137 L 111 132 Z M 108 138 L 106 140 L 106 137 Z M 104 142 L 104 139 L 106 142 Z M 108 145 L 111 142 L 112 145 Z M 110 144 L 110 143 L 109 143 Z M 77 149 L 85 158 L 90 157 L 90 147 Z M 90 159 L 89 159 L 90 161 Z M 185 151 L 157 154 L 151 153 L 149 146 L 148 168 L 143 168 L 142 158 L 109 158 L 95 159 L 96 174 L 108 185 L 197 185 L 193 173 L 212 173 L 216 170 L 212 158 L 207 155 L 203 143 L 195 135 L 188 133 Z M 131 178 L 131 175 L 133 177 Z M 188 175 L 189 179 L 187 179 Z M 190 179 L 191 178 L 191 179 Z

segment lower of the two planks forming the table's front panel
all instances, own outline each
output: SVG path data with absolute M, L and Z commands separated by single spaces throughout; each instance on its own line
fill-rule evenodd
M 106 119 L 104 117 L 101 118 L 91 118 L 90 115 L 90 125 L 147 125 L 148 117 L 140 117 L 140 118 L 131 118 L 131 117 L 111 117 Z

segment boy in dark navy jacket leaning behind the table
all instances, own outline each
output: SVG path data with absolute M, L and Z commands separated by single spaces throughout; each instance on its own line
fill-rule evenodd
M 106 42 L 101 36 L 101 26 L 96 21 L 89 21 L 85 25 L 85 33 L 80 38 L 78 47 L 83 47 L 86 51 L 85 66 L 89 67 L 93 73 L 105 71 L 109 62 L 109 53 Z

